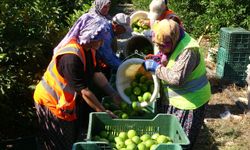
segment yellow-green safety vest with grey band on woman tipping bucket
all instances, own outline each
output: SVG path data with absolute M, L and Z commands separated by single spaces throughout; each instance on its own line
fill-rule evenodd
M 164 93 L 169 98 L 169 103 L 176 108 L 184 110 L 196 109 L 206 102 L 211 97 L 211 88 L 206 77 L 206 66 L 203 58 L 203 53 L 199 48 L 197 41 L 185 33 L 184 38 L 179 42 L 173 54 L 169 58 L 167 68 L 171 69 L 174 66 L 177 57 L 187 48 L 198 48 L 200 53 L 200 63 L 188 76 L 184 85 L 181 87 L 170 86 L 166 81 L 162 81 Z

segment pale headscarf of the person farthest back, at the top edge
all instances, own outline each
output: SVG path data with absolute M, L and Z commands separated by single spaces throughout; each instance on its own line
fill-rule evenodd
M 105 17 L 105 18 L 110 18 L 109 16 L 103 16 L 101 14 L 102 8 L 107 5 L 108 3 L 111 3 L 111 0 L 95 0 L 93 3 L 92 8 L 89 10 L 90 13 L 95 13 L 99 16 Z

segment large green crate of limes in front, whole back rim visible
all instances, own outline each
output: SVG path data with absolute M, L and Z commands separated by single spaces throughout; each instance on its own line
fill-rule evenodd
M 174 115 L 157 114 L 153 119 L 112 119 L 105 112 L 90 113 L 87 141 L 105 130 L 113 136 L 121 131 L 136 130 L 139 135 L 154 133 L 169 136 L 174 144 L 188 145 L 189 139 Z

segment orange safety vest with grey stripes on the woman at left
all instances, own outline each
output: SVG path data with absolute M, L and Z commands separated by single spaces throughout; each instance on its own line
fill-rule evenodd
M 96 66 L 95 50 L 91 50 L 91 52 L 93 63 Z M 77 93 L 69 86 L 68 81 L 59 74 L 57 69 L 57 58 L 64 54 L 77 55 L 82 63 L 86 64 L 84 50 L 73 38 L 54 54 L 42 80 L 36 86 L 34 100 L 36 103 L 46 106 L 58 118 L 73 121 L 76 119 L 75 98 Z M 86 71 L 86 65 L 82 69 Z

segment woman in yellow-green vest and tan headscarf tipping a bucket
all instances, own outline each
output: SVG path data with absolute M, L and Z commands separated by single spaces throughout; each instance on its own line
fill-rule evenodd
M 156 21 L 152 30 L 153 42 L 168 57 L 166 62 L 144 62 L 145 69 L 161 80 L 159 112 L 179 119 L 190 140 L 187 149 L 192 149 L 211 97 L 203 51 L 173 20 Z

